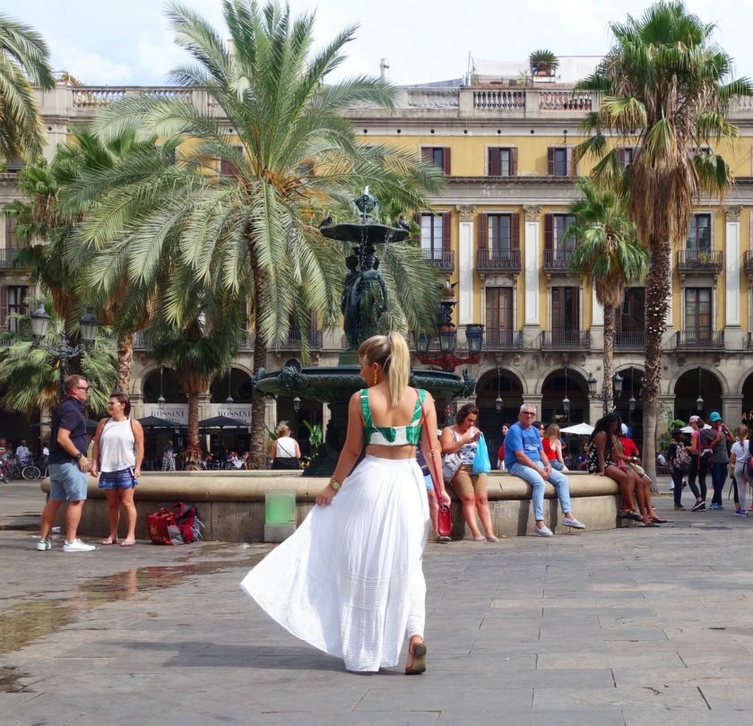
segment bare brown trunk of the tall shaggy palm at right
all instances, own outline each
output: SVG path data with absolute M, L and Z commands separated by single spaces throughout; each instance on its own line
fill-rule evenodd
M 645 374 L 641 397 L 644 409 L 643 463 L 656 491 L 656 419 L 662 380 L 662 338 L 669 312 L 671 246 L 650 240 L 651 264 L 645 285 Z

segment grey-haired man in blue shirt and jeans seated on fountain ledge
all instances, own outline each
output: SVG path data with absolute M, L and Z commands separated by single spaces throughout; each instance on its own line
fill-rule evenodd
M 541 537 L 551 537 L 552 531 L 544 523 L 544 480 L 549 480 L 557 491 L 559 506 L 562 507 L 566 527 L 584 530 L 570 509 L 570 488 L 567 477 L 561 471 L 552 469 L 541 445 L 541 436 L 532 427 L 536 409 L 530 403 L 520 407 L 518 422 L 510 427 L 505 438 L 505 465 L 515 477 L 526 480 L 533 487 L 533 532 Z

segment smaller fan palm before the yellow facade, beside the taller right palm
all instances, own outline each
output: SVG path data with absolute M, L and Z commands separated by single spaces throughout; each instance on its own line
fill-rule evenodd
M 584 177 L 578 179 L 576 189 L 583 196 L 568 206 L 576 220 L 565 230 L 567 237 L 576 238 L 570 270 L 591 281 L 604 307 L 604 408 L 610 411 L 615 309 L 622 304 L 625 288 L 645 279 L 648 251 L 617 194 Z

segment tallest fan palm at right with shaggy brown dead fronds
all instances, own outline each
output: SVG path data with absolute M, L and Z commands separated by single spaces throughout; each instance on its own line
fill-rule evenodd
M 615 45 L 576 91 L 596 91 L 602 105 L 584 120 L 590 138 L 578 155 L 593 155 L 593 176 L 626 199 L 628 216 L 651 255 L 646 280 L 644 461 L 654 467 L 654 434 L 662 375 L 662 335 L 669 313 L 671 250 L 686 238 L 693 204 L 703 193 L 731 186 L 729 165 L 705 147 L 739 135 L 725 114 L 737 96 L 751 95 L 747 79 L 729 80 L 731 57 L 712 41 L 714 25 L 662 0 L 640 18 L 613 22 Z M 635 149 L 620 163 L 619 149 Z

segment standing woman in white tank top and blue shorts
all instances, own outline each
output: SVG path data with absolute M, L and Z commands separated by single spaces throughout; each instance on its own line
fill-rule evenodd
M 109 416 L 101 419 L 94 436 L 91 476 L 100 477 L 100 489 L 108 497 L 109 535 L 103 545 L 117 544 L 120 506 L 125 511 L 125 540 L 121 547 L 136 543 L 136 506 L 134 487 L 138 484 L 143 462 L 143 428 L 129 419 L 131 402 L 125 393 L 113 393 L 108 401 Z

